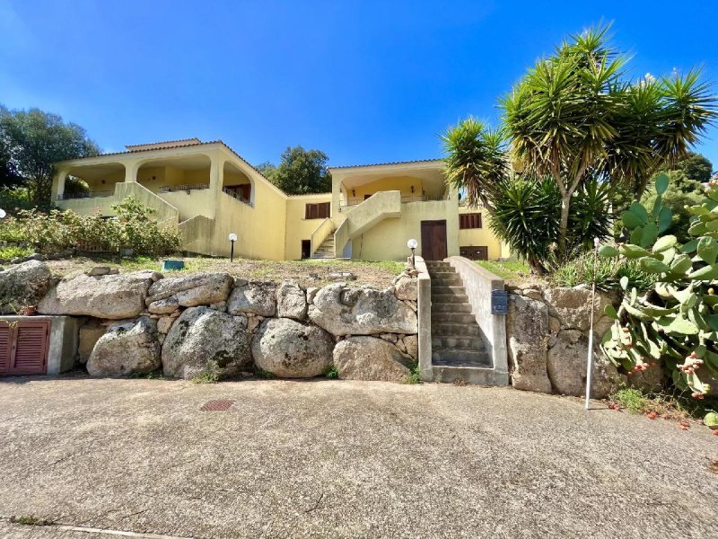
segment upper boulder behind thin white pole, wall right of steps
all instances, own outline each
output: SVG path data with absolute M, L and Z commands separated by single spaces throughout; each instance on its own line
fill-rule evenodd
M 544 298 L 550 314 L 560 321 L 562 330 L 586 331 L 591 327 L 591 288 L 547 288 Z M 610 319 L 603 314 L 603 309 L 616 301 L 617 298 L 611 294 L 596 293 L 593 325 L 599 337 L 610 327 Z

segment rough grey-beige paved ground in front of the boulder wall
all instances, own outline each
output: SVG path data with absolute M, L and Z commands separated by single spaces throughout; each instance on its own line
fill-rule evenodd
M 231 399 L 228 411 L 200 411 Z M 508 388 L 0 383 L 0 516 L 177 537 L 716 536 L 718 437 Z M 0 521 L 0 537 L 109 537 Z

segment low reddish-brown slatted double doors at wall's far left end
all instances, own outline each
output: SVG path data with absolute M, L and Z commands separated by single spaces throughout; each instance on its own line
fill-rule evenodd
M 0 376 L 44 375 L 49 335 L 48 320 L 0 321 Z

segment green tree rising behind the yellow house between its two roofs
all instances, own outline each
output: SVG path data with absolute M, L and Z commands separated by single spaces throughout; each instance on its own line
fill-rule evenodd
M 262 163 L 258 170 L 288 195 L 326 193 L 331 190 L 327 161 L 327 154 L 320 150 L 294 146 L 285 149 L 279 166 L 273 168 L 271 163 Z M 265 172 L 260 167 L 264 167 Z

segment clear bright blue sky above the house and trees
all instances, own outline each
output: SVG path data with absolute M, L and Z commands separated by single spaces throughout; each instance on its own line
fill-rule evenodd
M 703 65 L 718 81 L 716 15 L 713 0 L 0 0 L 0 103 L 57 112 L 105 151 L 200 137 L 251 163 L 294 145 L 333 165 L 433 158 L 445 128 L 495 122 L 534 60 L 601 19 L 632 75 Z

